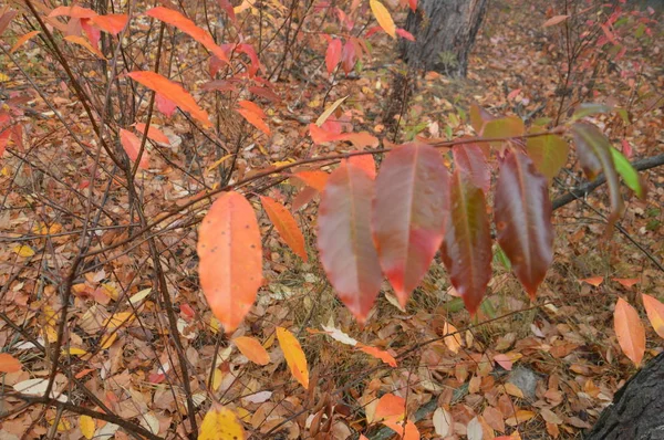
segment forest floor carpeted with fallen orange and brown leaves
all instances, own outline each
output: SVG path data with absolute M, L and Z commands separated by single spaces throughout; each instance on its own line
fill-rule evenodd
M 396 69 L 394 48 L 387 45 L 392 42 L 377 44 L 373 59 L 365 62 L 360 75 L 339 75 L 331 90 L 326 84 L 302 85 L 304 80 L 314 76 L 302 63 L 301 72 L 293 69 L 292 75 L 276 86 L 279 95 L 288 96 L 289 103 L 295 105 L 290 108 L 276 105 L 270 109 L 274 134 L 268 145 L 256 143 L 246 148 L 247 169 L 258 163 L 261 154 L 269 155 L 273 161 L 303 157 L 307 151 L 302 142 L 307 137 L 304 123 L 315 121 L 324 103 L 346 95 L 350 97 L 344 106 L 356 130 L 362 127 L 395 142 L 411 140 L 415 136 L 473 135 L 466 123 L 471 104 L 494 115 L 520 116 L 527 119 L 527 125 L 538 118 L 554 119 L 561 99 L 559 86 L 564 52 L 556 31 L 542 28 L 548 19 L 547 4 L 548 1 L 491 1 L 470 55 L 468 77 L 448 78 L 434 73 L 417 77 L 412 101 L 401 115 L 396 137 L 392 137 L 391 128 L 380 121 L 390 99 L 392 72 Z M 633 44 L 634 51 L 629 51 L 622 60 L 605 63 L 606 69 L 595 75 L 596 93 L 590 98 L 630 109 L 633 117 L 629 124 L 614 115 L 599 115 L 594 122 L 623 151 L 631 149 L 634 159 L 664 153 L 662 31 L 661 25 L 653 30 L 655 36 L 647 46 Z M 30 64 L 34 61 L 29 56 L 21 53 L 17 56 L 23 65 L 30 66 L 44 90 L 58 94 L 55 104 L 69 112 L 68 121 L 75 125 L 84 119 L 76 98 L 66 87 L 44 72 L 43 66 Z M 320 55 L 318 61 L 321 61 Z M 25 90 L 15 66 L 9 62 L 7 65 L 11 81 L 4 81 L 3 87 Z M 571 86 L 582 91 L 588 81 L 590 74 L 584 73 L 574 78 Z M 561 121 L 569 116 L 569 105 L 562 106 Z M 297 115 L 291 112 L 293 108 Z M 48 114 L 50 108 L 38 102 L 32 112 Z M 180 172 L 184 168 L 191 175 L 207 176 L 209 181 L 215 177 L 209 168 L 204 170 L 197 164 L 196 155 L 200 151 L 193 156 L 185 150 L 185 145 L 203 145 L 200 137 L 190 135 L 186 121 L 155 117 L 158 125 L 169 126 L 165 129 L 169 137 L 181 142 L 163 157 L 155 155 L 158 164 L 155 168 L 159 171 L 151 170 L 142 177 L 144 196 L 151 201 L 148 216 L 164 212 L 173 203 L 209 188 L 204 185 L 205 179 Z M 4 287 L 0 300 L 0 345 L 19 353 L 24 366 L 20 371 L 3 376 L 3 388 L 50 374 L 48 345 L 54 342 L 58 318 L 54 311 L 59 306 L 55 280 L 63 264 L 76 254 L 77 228 L 81 227 L 76 219 L 84 211 L 70 190 L 64 191 L 49 181 L 51 172 L 56 179 L 70 182 L 70 188 L 83 190 L 82 168 L 73 166 L 71 159 L 77 160 L 83 154 L 66 138 L 52 114 L 33 124 L 39 129 L 32 129 L 42 137 L 33 145 L 37 149 L 31 149 L 25 157 L 41 168 L 24 166 L 20 155 L 6 154 L 1 163 L 0 195 L 4 205 L 0 211 L 0 281 Z M 227 124 L 236 124 L 232 116 Z M 81 133 L 91 134 L 90 130 Z M 287 149 L 291 144 L 297 147 Z M 72 153 L 62 155 L 62 147 L 71 148 Z M 201 154 L 210 151 L 204 148 Z M 553 185 L 552 199 L 583 181 L 578 166 L 569 164 L 568 167 L 570 172 L 562 174 Z M 611 240 L 604 239 L 605 188 L 554 212 L 554 262 L 535 301 L 528 298 L 505 261 L 497 258 L 489 294 L 474 319 L 453 295 L 448 276 L 436 256 L 405 311 L 398 308 L 385 283 L 385 294 L 380 296 L 367 324 L 361 328 L 335 298 L 320 264 L 313 258 L 308 263 L 302 262 L 277 234 L 267 234 L 263 243 L 269 260 L 266 287 L 236 333 L 236 336 L 250 335 L 262 342 L 271 356 L 267 366 L 248 362 L 218 334 L 218 322 L 211 318 L 197 281 L 196 227 L 191 224 L 196 224 L 200 216 L 183 213 L 170 224 L 173 228 L 160 230 L 158 237 L 167 250 L 163 262 L 178 312 L 179 335 L 176 336 L 183 341 L 189 363 L 193 397 L 203 405 L 208 391 L 216 394 L 232 406 L 248 429 L 268 438 L 308 438 L 305 427 L 312 423 L 312 415 L 322 412 L 325 417 L 334 415 L 329 427 L 333 438 L 356 432 L 370 439 L 388 438 L 385 428 L 367 423 L 376 398 L 384 392 L 406 398 L 408 415 L 416 420 L 423 438 L 437 438 L 434 425 L 445 425 L 440 421 L 442 415 L 454 420 L 450 439 L 466 438 L 471 423 L 481 426 L 485 439 L 492 438 L 491 433 L 511 433 L 512 438 L 533 440 L 580 438 L 614 392 L 636 371 L 616 341 L 613 327 L 616 300 L 624 297 L 640 304 L 642 293 L 664 300 L 661 270 L 664 169 L 646 171 L 643 179 L 650 188 L 647 199 L 641 201 L 625 191 L 626 210 L 618 223 L 620 230 L 613 232 Z M 108 218 L 112 219 L 114 212 L 125 206 L 126 196 L 111 185 L 110 179 L 100 179 L 97 185 L 100 193 L 107 195 L 104 200 L 110 203 Z M 106 187 L 102 185 L 108 185 L 107 192 L 103 192 Z M 289 189 L 281 188 L 272 195 L 287 200 L 292 196 Z M 71 212 L 48 209 L 53 201 L 68 206 Z M 315 253 L 314 213 L 315 203 L 309 203 L 297 214 L 311 255 Z M 264 232 L 271 231 L 264 216 L 260 224 Z M 110 221 L 103 227 L 94 249 L 128 237 L 124 229 L 116 231 L 117 223 Z M 40 238 L 44 228 L 49 240 Z M 168 332 L 159 302 L 149 301 L 153 280 L 146 275 L 151 273 L 147 255 L 147 245 L 143 242 L 135 250 L 115 249 L 91 261 L 90 270 L 75 280 L 76 297 L 68 323 L 70 348 L 62 362 L 68 363 L 76 379 L 83 380 L 114 413 L 135 420 L 159 436 L 176 432 L 184 438 L 186 428 L 178 421 L 186 396 L 180 379 L 173 374 L 178 366 L 169 344 L 174 335 Z M 129 296 L 133 302 L 127 302 Z M 134 302 L 141 302 L 142 306 L 135 310 Z M 643 307 L 640 313 L 645 319 Z M 110 323 L 113 327 L 113 317 L 122 317 L 122 325 L 114 328 L 114 336 L 108 336 L 107 327 Z M 9 322 L 15 323 L 20 331 L 9 326 Z M 311 383 L 318 384 L 309 392 L 286 368 L 274 342 L 276 326 L 291 328 L 300 339 L 311 369 Z M 322 326 L 386 350 L 398 366 L 391 367 L 330 338 Z M 455 328 L 461 331 L 458 336 L 440 338 Z M 644 362 L 647 362 L 662 350 L 662 338 L 650 326 L 645 328 Z M 336 337 L 343 339 L 339 334 Z M 435 338 L 438 341 L 428 343 Z M 46 348 L 40 348 L 37 342 Z M 416 349 L 412 349 L 414 347 Z M 210 371 L 212 358 L 217 359 L 217 367 Z M 58 376 L 56 386 L 66 390 L 71 401 L 94 407 L 64 375 Z M 0 411 L 3 411 L 13 410 L 19 404 L 1 405 Z M 315 409 L 304 417 L 291 418 L 308 406 Z M 322 412 L 317 412 L 319 410 Z M 62 416 L 54 409 L 44 413 L 39 407 L 0 420 L 0 438 L 21 438 L 27 429 L 45 434 L 53 420 L 59 420 L 58 431 L 62 438 L 82 438 L 84 427 L 80 417 L 66 411 Z M 104 426 L 97 422 L 95 429 L 98 432 Z M 116 438 L 126 438 L 122 430 L 107 429 Z

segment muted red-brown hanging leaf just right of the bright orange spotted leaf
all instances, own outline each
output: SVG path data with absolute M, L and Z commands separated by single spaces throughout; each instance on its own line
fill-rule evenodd
M 355 318 L 364 322 L 381 290 L 381 268 L 371 237 L 374 182 L 361 168 L 340 165 L 330 175 L 319 208 L 318 248 L 328 280 Z

